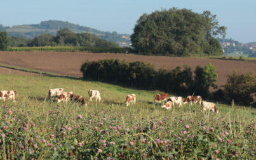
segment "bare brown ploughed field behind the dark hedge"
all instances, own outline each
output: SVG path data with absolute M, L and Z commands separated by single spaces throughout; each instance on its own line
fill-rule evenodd
M 206 58 L 173 58 L 165 56 L 138 56 L 133 54 L 109 54 L 88 52 L 0 52 L 0 63 L 20 66 L 41 71 L 50 71 L 62 75 L 81 77 L 80 67 L 83 61 L 96 61 L 105 58 L 126 59 L 127 61 L 144 61 L 152 63 L 156 68 L 168 70 L 176 66 L 189 65 L 205 66 L 212 63 L 219 74 L 217 85 L 226 83 L 226 75 L 233 71 L 247 73 L 252 71 L 256 75 L 256 63 L 249 61 L 229 61 Z M 0 72 L 1 73 L 1 72 Z

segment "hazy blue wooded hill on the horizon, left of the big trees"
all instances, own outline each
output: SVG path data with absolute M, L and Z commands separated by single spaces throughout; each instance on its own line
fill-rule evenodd
M 69 28 L 70 30 L 72 30 L 72 32 L 75 33 L 88 32 L 91 34 L 96 34 L 102 39 L 116 42 L 117 44 L 119 44 L 119 46 L 130 45 L 130 35 L 118 34 L 117 32 L 104 32 L 96 30 L 95 28 L 84 27 L 58 20 L 43 21 L 39 24 L 34 25 L 15 25 L 13 27 L 4 27 L 3 25 L 0 25 L 0 31 L 6 31 L 10 37 L 25 37 L 29 39 L 37 37 L 41 34 L 56 35 L 57 31 L 62 28 Z

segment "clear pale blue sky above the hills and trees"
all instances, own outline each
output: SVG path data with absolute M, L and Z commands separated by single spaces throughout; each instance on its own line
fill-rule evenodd
M 173 7 L 196 13 L 209 10 L 226 38 L 242 43 L 256 41 L 256 0 L 0 0 L 0 24 L 39 24 L 62 20 L 102 31 L 132 34 L 138 18 Z

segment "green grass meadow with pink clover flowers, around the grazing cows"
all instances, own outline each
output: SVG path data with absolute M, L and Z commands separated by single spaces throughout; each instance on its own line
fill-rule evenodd
M 172 111 L 152 103 L 158 91 L 135 90 L 78 78 L 0 75 L 0 90 L 17 90 L 17 102 L 0 101 L 0 159 L 253 159 L 256 109 L 217 104 L 220 113 L 184 105 Z M 63 87 L 87 107 L 46 100 Z M 125 106 L 127 94 L 137 95 Z

